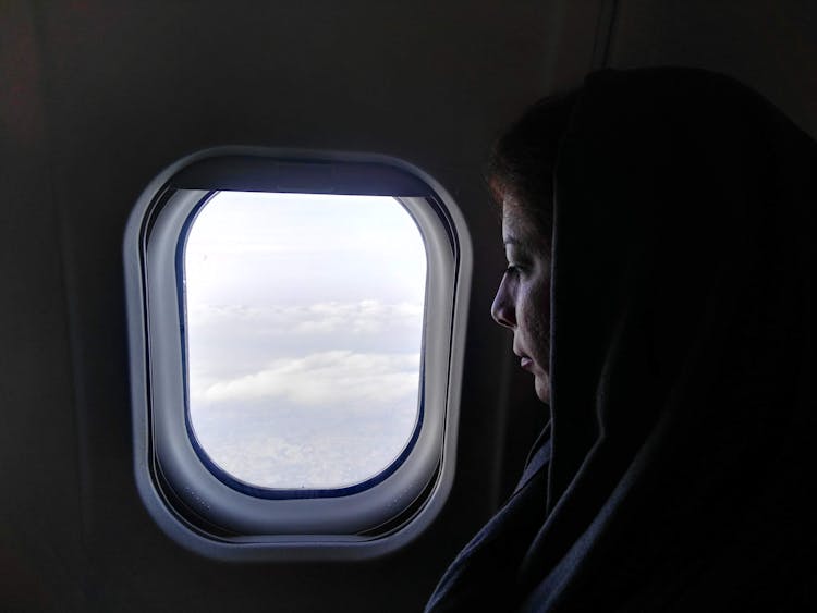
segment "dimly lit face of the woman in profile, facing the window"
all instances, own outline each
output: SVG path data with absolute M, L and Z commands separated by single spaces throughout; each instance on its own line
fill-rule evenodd
M 513 353 L 534 376 L 536 395 L 550 400 L 549 240 L 513 196 L 502 200 L 502 240 L 508 269 L 491 305 L 500 326 L 513 331 Z

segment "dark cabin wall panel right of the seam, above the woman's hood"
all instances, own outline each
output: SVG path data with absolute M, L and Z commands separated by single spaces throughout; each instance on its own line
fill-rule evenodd
M 609 65 L 684 65 L 755 88 L 817 138 L 817 3 L 620 0 Z

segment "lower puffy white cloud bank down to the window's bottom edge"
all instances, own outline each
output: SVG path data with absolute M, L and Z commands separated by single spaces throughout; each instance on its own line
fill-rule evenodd
M 328 351 L 272 360 L 196 392 L 191 418 L 229 474 L 269 488 L 340 488 L 383 470 L 417 419 L 418 353 Z

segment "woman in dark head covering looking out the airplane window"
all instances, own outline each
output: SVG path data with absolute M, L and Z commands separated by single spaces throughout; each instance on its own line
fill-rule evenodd
M 427 611 L 814 610 L 815 171 L 696 70 L 596 73 L 500 139 L 492 314 L 550 422 Z

